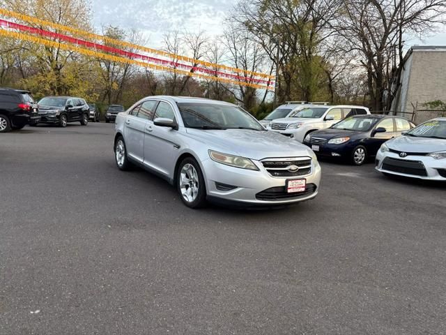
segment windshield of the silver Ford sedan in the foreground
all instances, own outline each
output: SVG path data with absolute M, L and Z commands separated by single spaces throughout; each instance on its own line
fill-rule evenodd
M 178 103 L 178 109 L 187 128 L 265 130 L 251 114 L 233 105 Z

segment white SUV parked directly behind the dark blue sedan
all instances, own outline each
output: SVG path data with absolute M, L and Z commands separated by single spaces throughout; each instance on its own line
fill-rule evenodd
M 369 108 L 350 105 L 313 105 L 295 111 L 283 119 L 275 119 L 267 128 L 268 131 L 275 131 L 303 142 L 305 136 L 312 131 L 330 128 L 341 119 L 362 114 L 370 114 Z

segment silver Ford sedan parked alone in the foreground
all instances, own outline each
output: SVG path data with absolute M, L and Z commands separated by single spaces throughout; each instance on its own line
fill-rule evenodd
M 314 198 L 321 180 L 311 149 L 236 105 L 202 98 L 138 101 L 116 117 L 114 153 L 119 169 L 140 165 L 167 179 L 192 208 L 291 204 Z

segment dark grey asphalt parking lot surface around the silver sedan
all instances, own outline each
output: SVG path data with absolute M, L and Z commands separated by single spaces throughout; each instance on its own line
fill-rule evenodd
M 113 134 L 0 135 L 0 334 L 446 334 L 446 186 L 323 162 L 316 200 L 193 210 Z

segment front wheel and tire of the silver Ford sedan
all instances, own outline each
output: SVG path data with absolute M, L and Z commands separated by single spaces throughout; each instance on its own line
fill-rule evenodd
M 192 157 L 187 157 L 178 165 L 176 187 L 183 203 L 190 208 L 206 205 L 206 185 L 200 166 Z

